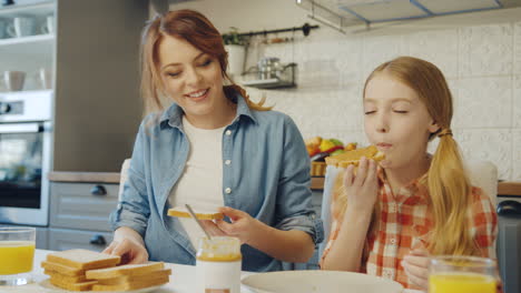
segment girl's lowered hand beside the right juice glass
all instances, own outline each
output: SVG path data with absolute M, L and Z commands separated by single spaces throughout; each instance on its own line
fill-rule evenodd
M 409 280 L 423 291 L 429 287 L 429 252 L 424 249 L 411 251 L 402 261 Z

